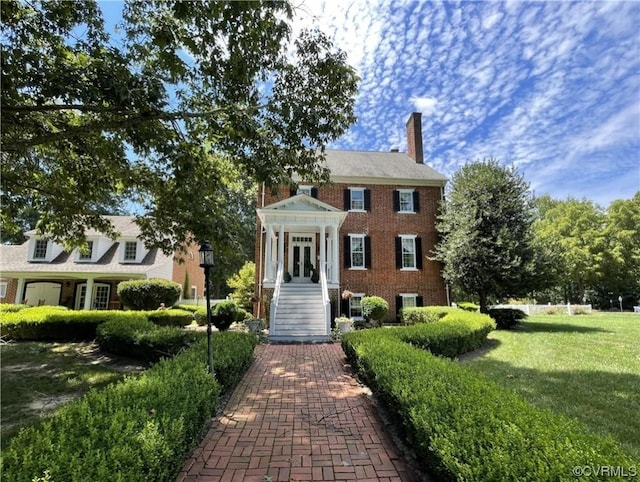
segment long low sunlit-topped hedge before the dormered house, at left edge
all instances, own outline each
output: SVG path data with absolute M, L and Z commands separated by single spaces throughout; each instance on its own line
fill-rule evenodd
M 93 340 L 107 320 L 146 319 L 144 313 L 113 310 L 71 311 L 61 306 L 37 306 L 2 314 L 0 335 L 11 340 Z

